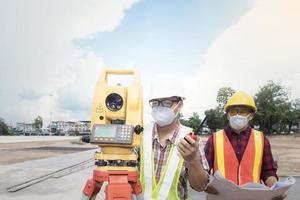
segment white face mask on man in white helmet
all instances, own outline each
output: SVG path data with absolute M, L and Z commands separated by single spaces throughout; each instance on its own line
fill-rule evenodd
M 170 125 L 178 115 L 173 109 L 164 106 L 153 107 L 151 114 L 160 127 Z

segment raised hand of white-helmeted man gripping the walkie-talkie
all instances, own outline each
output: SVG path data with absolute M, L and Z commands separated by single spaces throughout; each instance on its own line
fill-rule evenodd
M 184 139 L 180 140 L 177 147 L 179 153 L 186 163 L 192 163 L 195 161 L 201 162 L 198 136 L 196 140 L 194 140 L 190 135 L 186 135 Z

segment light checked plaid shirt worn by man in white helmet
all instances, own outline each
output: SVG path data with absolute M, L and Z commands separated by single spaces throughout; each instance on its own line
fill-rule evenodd
M 165 146 L 163 146 L 159 142 L 156 124 L 153 127 L 153 152 L 154 152 L 154 166 L 155 166 L 154 168 L 155 168 L 156 182 L 159 181 L 159 179 L 162 175 L 162 172 L 166 165 L 172 145 L 175 144 L 177 137 L 179 137 L 179 134 L 178 134 L 179 128 L 180 128 L 180 125 L 178 125 L 175 128 L 174 134 L 170 138 L 167 139 Z M 203 153 L 201 153 L 201 157 L 202 157 L 202 163 L 207 163 Z M 208 169 L 208 166 L 203 166 L 203 167 L 204 167 L 204 169 Z M 187 169 L 185 167 L 183 167 L 183 170 L 179 177 L 179 184 L 177 187 L 178 195 L 181 199 L 187 199 L 187 195 L 188 195 L 187 181 L 188 181 Z

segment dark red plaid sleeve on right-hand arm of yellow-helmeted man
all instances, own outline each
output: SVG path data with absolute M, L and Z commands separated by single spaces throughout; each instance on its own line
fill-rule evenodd
M 274 176 L 278 180 L 278 176 L 276 174 L 277 166 L 275 165 L 272 151 L 271 151 L 271 144 L 269 140 L 265 137 L 264 138 L 264 152 L 263 152 L 263 160 L 261 166 L 261 175 L 260 178 L 265 182 L 270 176 Z

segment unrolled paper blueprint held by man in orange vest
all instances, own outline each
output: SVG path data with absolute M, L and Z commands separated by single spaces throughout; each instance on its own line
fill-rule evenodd
M 271 188 L 258 183 L 247 183 L 238 186 L 224 179 L 217 171 L 211 176 L 209 185 L 213 186 L 219 195 L 207 195 L 207 200 L 271 200 L 281 196 L 296 182 L 294 177 L 288 177 L 283 182 L 277 182 Z

